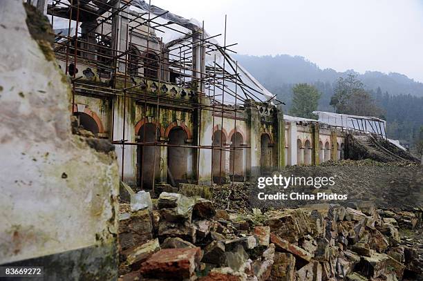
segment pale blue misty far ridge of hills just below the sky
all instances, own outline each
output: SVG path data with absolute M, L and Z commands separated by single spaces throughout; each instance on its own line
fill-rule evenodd
M 339 77 L 346 77 L 354 70 L 337 72 L 332 68 L 321 69 L 304 57 L 290 55 L 276 55 L 255 57 L 250 55 L 234 55 L 240 64 L 259 79 L 263 86 L 274 89 L 281 84 L 323 83 L 333 84 Z M 357 74 L 368 90 L 377 90 L 380 87 L 382 92 L 386 91 L 391 95 L 415 95 L 423 97 L 423 83 L 415 81 L 400 73 L 389 74 L 379 71 L 367 71 L 364 74 Z

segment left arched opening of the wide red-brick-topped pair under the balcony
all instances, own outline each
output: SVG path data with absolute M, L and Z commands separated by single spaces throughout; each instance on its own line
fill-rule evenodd
M 146 123 L 138 131 L 138 142 L 153 143 L 160 137 L 160 130 L 153 123 Z M 156 158 L 155 158 L 156 157 Z M 160 177 L 160 148 L 154 145 L 137 148 L 138 184 L 142 189 L 153 188 L 154 179 Z

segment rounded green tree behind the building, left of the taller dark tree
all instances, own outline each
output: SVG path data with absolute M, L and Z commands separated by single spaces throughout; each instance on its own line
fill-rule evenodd
M 317 110 L 321 97 L 317 88 L 308 84 L 296 84 L 292 87 L 292 93 L 290 114 L 309 119 L 317 118 L 313 114 L 313 111 Z

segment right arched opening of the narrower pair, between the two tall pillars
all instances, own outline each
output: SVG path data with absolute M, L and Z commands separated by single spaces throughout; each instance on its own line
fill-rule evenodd
M 241 135 L 239 132 L 234 133 L 234 135 L 231 137 L 231 142 L 231 153 L 229 155 L 229 174 L 232 177 L 232 181 L 243 182 L 243 135 Z

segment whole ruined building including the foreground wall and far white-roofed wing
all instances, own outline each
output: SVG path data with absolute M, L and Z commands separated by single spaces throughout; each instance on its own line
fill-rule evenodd
M 10 214 L 0 264 L 115 280 L 122 186 L 154 196 L 285 166 L 411 159 L 382 119 L 284 115 L 232 57 L 226 19 L 209 35 L 141 0 L 12 0 L 0 21 L 0 204 Z

